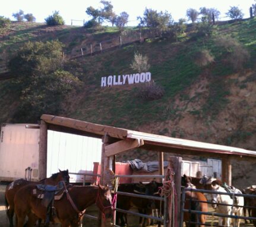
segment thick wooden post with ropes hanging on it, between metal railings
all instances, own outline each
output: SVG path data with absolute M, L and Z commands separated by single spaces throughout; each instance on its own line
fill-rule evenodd
M 168 166 L 168 171 L 170 172 L 170 180 L 174 181 L 175 184 L 175 207 L 172 206 L 172 209 L 175 209 L 175 217 L 172 217 L 170 210 L 170 204 L 168 204 L 168 212 L 169 214 L 169 223 L 168 227 L 174 227 L 172 226 L 172 223 L 174 223 L 175 226 L 179 226 L 179 218 L 180 218 L 180 212 L 179 210 L 181 209 L 181 167 L 182 167 L 182 158 L 181 157 L 175 157 L 175 156 L 170 156 L 169 157 L 169 166 Z M 173 175 L 174 174 L 174 175 Z M 167 179 L 165 179 L 167 180 Z M 174 220 L 173 220 L 174 218 Z

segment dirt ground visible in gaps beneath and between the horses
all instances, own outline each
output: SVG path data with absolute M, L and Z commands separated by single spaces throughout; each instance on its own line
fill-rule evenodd
M 6 185 L 3 183 L 0 183 L 0 227 L 9 227 L 9 222 L 6 218 L 6 210 L 5 210 L 5 204 L 4 204 L 4 192 L 5 192 Z M 133 210 L 136 212 L 136 210 Z M 210 208 L 210 211 L 213 211 Z M 86 214 L 97 216 L 98 215 L 98 208 L 96 208 L 94 205 L 87 209 Z M 129 221 L 129 227 L 137 227 L 139 226 L 139 217 L 128 215 L 128 221 Z M 216 217 L 208 216 L 207 217 L 207 223 L 209 224 L 217 224 L 218 220 Z M 85 217 L 83 220 L 82 227 L 97 227 L 98 221 Z M 151 225 L 151 227 L 156 227 L 157 225 Z M 163 226 L 163 225 L 162 225 Z M 185 225 L 183 225 L 185 226 Z M 245 224 L 243 220 L 241 220 L 241 227 L 253 227 L 253 224 Z M 50 227 L 60 227 L 60 224 L 52 224 Z

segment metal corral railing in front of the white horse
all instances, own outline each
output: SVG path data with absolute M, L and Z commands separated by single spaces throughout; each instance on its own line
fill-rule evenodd
M 230 196 L 241 196 L 241 197 L 249 197 L 249 198 L 256 198 L 256 195 L 250 195 L 250 194 L 237 194 L 237 193 L 224 193 L 220 191 L 213 191 L 213 190 L 203 190 L 203 189 L 195 189 L 195 188 L 184 188 L 182 191 L 182 200 L 181 200 L 181 222 L 179 227 L 183 227 L 183 221 L 184 221 L 184 212 L 189 212 L 190 214 L 199 214 L 199 215 L 209 215 L 211 217 L 230 217 L 230 218 L 236 218 L 236 219 L 244 219 L 244 220 L 256 220 L 256 217 L 245 217 L 245 216 L 237 216 L 237 215 L 226 215 L 226 214 L 220 214 L 215 211 L 211 212 L 203 212 L 203 211 L 198 211 L 198 210 L 192 210 L 192 209 L 184 209 L 185 205 L 185 192 L 186 191 L 195 191 L 203 194 L 219 194 L 219 195 L 230 195 Z M 216 204 L 215 202 L 205 202 L 205 201 L 199 201 L 199 200 L 191 200 L 189 201 L 194 201 L 194 202 L 201 202 L 201 203 L 207 203 L 207 204 Z M 235 205 L 235 204 L 226 204 L 226 203 L 217 203 L 218 205 L 226 205 L 226 206 L 231 206 L 231 207 L 243 207 L 243 208 L 254 208 L 252 206 L 241 206 L 241 205 Z M 205 225 L 205 226 L 218 226 L 218 227 L 224 227 L 224 225 L 216 225 L 216 224 L 208 224 L 208 223 L 200 223 L 200 222 L 189 222 L 191 224 L 198 224 L 198 225 Z

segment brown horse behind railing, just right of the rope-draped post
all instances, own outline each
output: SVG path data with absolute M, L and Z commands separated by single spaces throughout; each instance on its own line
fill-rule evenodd
M 186 177 L 186 175 L 182 176 L 182 186 L 185 188 L 193 188 L 190 178 Z M 185 191 L 184 209 L 208 212 L 207 199 L 203 193 L 199 193 L 198 191 Z M 195 227 L 198 225 L 204 227 L 206 215 L 184 212 L 183 221 L 185 222 L 186 227 Z

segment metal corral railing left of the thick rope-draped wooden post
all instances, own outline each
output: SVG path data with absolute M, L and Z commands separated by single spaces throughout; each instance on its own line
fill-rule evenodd
M 115 175 L 116 178 L 164 178 L 164 175 Z M 115 194 L 117 195 L 124 195 L 124 196 L 133 196 L 133 197 L 138 197 L 138 198 L 147 198 L 149 200 L 158 200 L 158 201 L 163 201 L 164 202 L 164 215 L 163 218 L 161 217 L 155 217 L 155 216 L 151 216 L 151 215 L 145 215 L 145 214 L 141 214 L 139 212 L 133 212 L 133 211 L 129 211 L 129 210 L 123 210 L 123 209 L 119 209 L 116 208 L 116 202 L 114 204 L 114 218 L 113 218 L 113 223 L 112 226 L 115 227 L 121 227 L 119 225 L 116 225 L 115 223 L 115 212 L 119 211 L 119 212 L 123 212 L 126 214 L 131 214 L 131 215 L 135 215 L 135 216 L 139 216 L 139 217 L 144 217 L 144 218 L 150 218 L 150 219 L 154 219 L 158 222 L 163 223 L 164 227 L 166 227 L 166 222 L 167 222 L 167 196 L 163 197 L 158 197 L 158 196 L 152 196 L 152 195 L 140 195 L 140 194 L 133 194 L 133 193 L 126 193 L 123 191 L 114 191 Z M 118 196 L 117 196 L 117 200 L 118 200 Z

